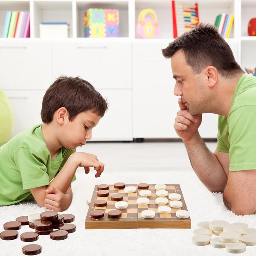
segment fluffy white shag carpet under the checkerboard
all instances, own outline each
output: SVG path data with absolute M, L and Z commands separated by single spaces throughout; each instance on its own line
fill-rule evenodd
M 76 176 L 77 180 L 73 183 L 73 202 L 65 213 L 75 215 L 73 223 L 76 224 L 77 230 L 63 241 L 53 241 L 49 236 L 40 236 L 38 241 L 33 243 L 42 246 L 41 256 L 230 255 L 225 249 L 215 249 L 210 245 L 193 245 L 192 230 L 196 228 L 197 223 L 222 219 L 229 223 L 245 222 L 249 227 L 256 228 L 256 215 L 238 216 L 227 210 L 222 201 L 222 194 L 209 192 L 198 180 L 192 168 L 185 170 L 173 168 L 172 171 L 168 171 L 166 168 L 156 170 L 148 165 L 131 172 L 126 170 L 122 172 L 118 168 L 108 172 L 108 168 L 105 168 L 102 177 L 97 179 L 93 172 L 85 175 L 82 169 L 79 169 Z M 180 184 L 190 212 L 192 228 L 85 230 L 84 220 L 88 210 L 86 200 L 90 201 L 95 184 L 113 184 L 120 181 L 128 184 L 140 182 Z M 7 221 L 14 221 L 19 216 L 42 211 L 44 208 L 38 207 L 35 202 L 0 207 L 0 231 L 3 231 L 3 224 Z M 26 231 L 32 231 L 32 229 L 22 226 L 19 234 Z M 22 247 L 26 244 L 29 243 L 20 241 L 20 238 L 12 241 L 0 239 L 0 255 L 23 255 Z M 256 255 L 256 246 L 247 247 L 243 255 Z

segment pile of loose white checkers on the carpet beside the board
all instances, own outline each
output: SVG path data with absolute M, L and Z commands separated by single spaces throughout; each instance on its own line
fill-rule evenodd
M 212 235 L 217 237 L 212 238 Z M 256 229 L 241 222 L 229 224 L 227 221 L 203 221 L 193 230 L 192 243 L 226 248 L 229 253 L 243 253 L 246 246 L 256 245 Z

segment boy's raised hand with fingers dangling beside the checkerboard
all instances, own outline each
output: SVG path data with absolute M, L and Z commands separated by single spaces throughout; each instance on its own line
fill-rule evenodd
M 104 163 L 99 162 L 96 155 L 84 152 L 75 152 L 70 157 L 73 158 L 77 167 L 84 167 L 86 174 L 90 172 L 90 167 L 94 167 L 94 170 L 96 170 L 97 173 L 95 177 L 100 177 L 104 171 Z

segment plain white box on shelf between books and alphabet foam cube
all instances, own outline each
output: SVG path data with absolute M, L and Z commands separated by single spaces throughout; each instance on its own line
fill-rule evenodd
M 41 38 L 68 38 L 68 24 L 40 24 Z

